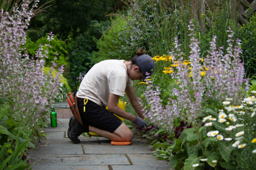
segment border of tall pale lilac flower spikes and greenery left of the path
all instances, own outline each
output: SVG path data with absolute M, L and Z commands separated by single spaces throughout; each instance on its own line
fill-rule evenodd
M 1 10 L 0 163 L 3 169 L 29 167 L 25 165 L 28 159 L 22 161 L 23 156 L 19 159 L 17 156 L 28 147 L 34 147 L 31 142 L 45 135 L 38 126 L 43 125 L 42 118 L 54 104 L 64 69 L 62 65 L 55 71 L 57 65 L 51 61 L 49 71 L 43 71 L 45 58 L 48 57 L 47 48 L 54 39 L 52 33 L 48 36 L 48 43 L 40 45 L 34 57 L 27 54 L 25 30 L 38 0 L 30 3 L 32 1 L 23 0 L 10 13 Z

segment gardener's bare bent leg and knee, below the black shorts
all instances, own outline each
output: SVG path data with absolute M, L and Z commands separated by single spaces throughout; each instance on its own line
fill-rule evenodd
M 133 138 L 132 131 L 124 123 L 122 123 L 113 133 L 93 126 L 89 126 L 89 131 L 97 133 L 115 142 L 129 142 Z

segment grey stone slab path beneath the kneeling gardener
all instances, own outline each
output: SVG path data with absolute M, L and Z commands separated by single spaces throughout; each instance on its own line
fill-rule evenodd
M 69 110 L 69 109 L 68 109 Z M 35 170 L 169 170 L 169 163 L 153 157 L 146 141 L 134 137 L 131 145 L 114 146 L 104 137 L 79 138 L 74 144 L 67 137 L 70 113 L 65 106 L 55 109 L 56 128 L 45 128 L 48 142 L 42 141 L 28 153 Z M 68 117 L 69 115 L 69 117 Z M 67 118 L 68 117 L 68 118 Z

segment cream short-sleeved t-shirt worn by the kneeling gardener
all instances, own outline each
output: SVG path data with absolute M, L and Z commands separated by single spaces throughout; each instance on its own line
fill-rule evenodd
M 104 60 L 95 64 L 84 76 L 77 97 L 107 106 L 109 94 L 124 96 L 126 86 L 132 86 L 125 60 Z

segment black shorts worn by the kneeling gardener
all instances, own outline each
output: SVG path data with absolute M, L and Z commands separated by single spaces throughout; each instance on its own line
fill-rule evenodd
M 84 100 L 78 102 L 78 110 L 83 124 L 91 125 L 95 128 L 103 129 L 113 133 L 122 123 L 118 117 L 109 112 L 106 108 L 88 100 L 85 105 Z

